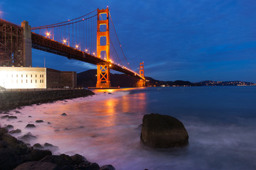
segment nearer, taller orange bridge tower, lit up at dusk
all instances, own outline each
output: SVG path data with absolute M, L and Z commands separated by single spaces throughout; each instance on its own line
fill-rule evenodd
M 110 62 L 109 9 L 97 9 L 97 57 L 105 57 Z M 97 64 L 97 88 L 108 88 L 110 84 L 110 65 Z

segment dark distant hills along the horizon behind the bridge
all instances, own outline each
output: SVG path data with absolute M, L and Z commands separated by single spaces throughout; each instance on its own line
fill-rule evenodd
M 198 83 L 191 83 L 190 81 L 159 81 L 146 78 L 146 86 L 256 86 L 254 83 L 244 81 L 201 81 Z M 110 74 L 110 81 L 112 86 L 120 87 L 137 87 L 139 79 L 129 76 L 127 74 Z M 92 87 L 97 83 L 97 70 L 90 69 L 85 72 L 78 73 L 78 87 Z

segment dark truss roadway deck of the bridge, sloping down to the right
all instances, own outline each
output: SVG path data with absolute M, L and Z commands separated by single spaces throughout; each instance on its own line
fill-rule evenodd
M 31 40 L 32 47 L 34 49 L 50 52 L 56 55 L 62 55 L 68 57 L 68 59 L 80 60 L 82 62 L 88 62 L 90 64 L 111 64 L 110 69 L 113 69 L 117 72 L 129 74 L 132 77 L 137 77 L 137 79 L 144 79 L 144 77 L 141 77 L 138 73 L 132 72 L 129 69 L 125 69 L 119 66 L 118 64 L 107 62 L 105 60 L 100 59 L 99 57 L 87 54 L 86 52 L 82 52 L 58 41 L 46 38 L 42 35 L 31 33 Z

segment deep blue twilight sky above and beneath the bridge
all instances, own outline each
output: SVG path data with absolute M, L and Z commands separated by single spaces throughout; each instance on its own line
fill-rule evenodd
M 1 0 L 0 18 L 31 27 L 109 6 L 132 69 L 159 80 L 256 82 L 255 0 Z M 95 65 L 33 50 L 33 67 L 83 72 Z

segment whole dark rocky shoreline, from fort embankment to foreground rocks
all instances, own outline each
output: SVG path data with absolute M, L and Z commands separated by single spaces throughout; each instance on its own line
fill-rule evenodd
M 92 91 L 85 89 L 78 90 L 55 90 L 55 91 L 4 91 L 0 95 L 1 119 L 16 119 L 14 115 L 9 115 L 9 111 L 21 106 L 31 106 L 32 104 L 50 103 L 68 98 L 78 98 L 94 95 Z M 19 111 L 15 111 L 18 113 Z M 19 112 L 20 113 L 20 112 Z M 64 115 L 63 115 L 64 116 Z M 36 120 L 41 123 L 43 120 Z M 33 128 L 33 124 L 28 124 L 26 128 Z M 21 133 L 21 130 L 14 130 L 13 125 L 0 125 L 0 170 L 8 169 L 86 169 L 86 170 L 114 170 L 114 166 L 99 166 L 97 163 L 88 162 L 80 154 L 69 156 L 67 154 L 53 155 L 58 149 L 57 146 L 45 143 L 36 143 L 31 146 L 29 140 L 33 136 L 28 134 L 18 137 L 12 135 Z

